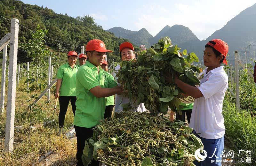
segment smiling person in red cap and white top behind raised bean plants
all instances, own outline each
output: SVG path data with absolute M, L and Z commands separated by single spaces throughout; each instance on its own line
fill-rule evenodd
M 122 61 L 130 61 L 135 58 L 134 48 L 132 46 L 132 43 L 130 42 L 124 42 L 120 45 L 120 58 Z M 120 65 L 118 64 L 115 68 L 115 71 L 118 71 L 120 69 Z M 116 72 L 114 72 L 114 78 L 117 80 Z M 119 85 L 119 83 L 117 83 Z M 139 105 L 134 105 L 134 101 L 130 101 L 128 97 L 124 97 L 123 95 L 116 94 L 116 100 L 115 100 L 115 112 L 121 112 L 123 111 L 122 104 L 127 104 L 131 102 L 132 108 L 134 108 L 133 112 L 144 112 L 146 111 L 146 108 L 144 106 L 144 103 L 140 103 Z

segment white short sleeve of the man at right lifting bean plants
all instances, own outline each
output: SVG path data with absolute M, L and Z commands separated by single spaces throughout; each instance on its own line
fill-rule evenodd
M 216 93 L 222 92 L 224 89 L 225 81 L 223 76 L 216 75 L 209 78 L 209 80 L 202 83 L 198 89 L 202 92 L 205 99 L 212 97 Z

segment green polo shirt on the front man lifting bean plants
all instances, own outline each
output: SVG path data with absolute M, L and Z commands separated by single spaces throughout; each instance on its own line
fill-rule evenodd
M 99 67 L 86 61 L 76 74 L 76 114 L 74 125 L 86 128 L 92 128 L 100 124 L 104 119 L 106 97 L 95 97 L 89 90 L 100 86 L 103 88 L 116 87 L 116 81 L 113 76 Z

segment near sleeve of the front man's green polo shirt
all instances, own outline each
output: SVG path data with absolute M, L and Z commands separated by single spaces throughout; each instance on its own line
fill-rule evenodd
M 77 72 L 77 79 L 88 91 L 93 87 L 100 86 L 100 82 L 94 77 L 90 69 L 84 69 Z

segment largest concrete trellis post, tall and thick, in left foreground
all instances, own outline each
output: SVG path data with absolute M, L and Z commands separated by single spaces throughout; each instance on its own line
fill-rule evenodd
M 18 53 L 19 20 L 11 19 L 10 72 L 8 76 L 8 92 L 6 107 L 5 151 L 13 151 L 14 116 L 16 100 L 17 53 Z

